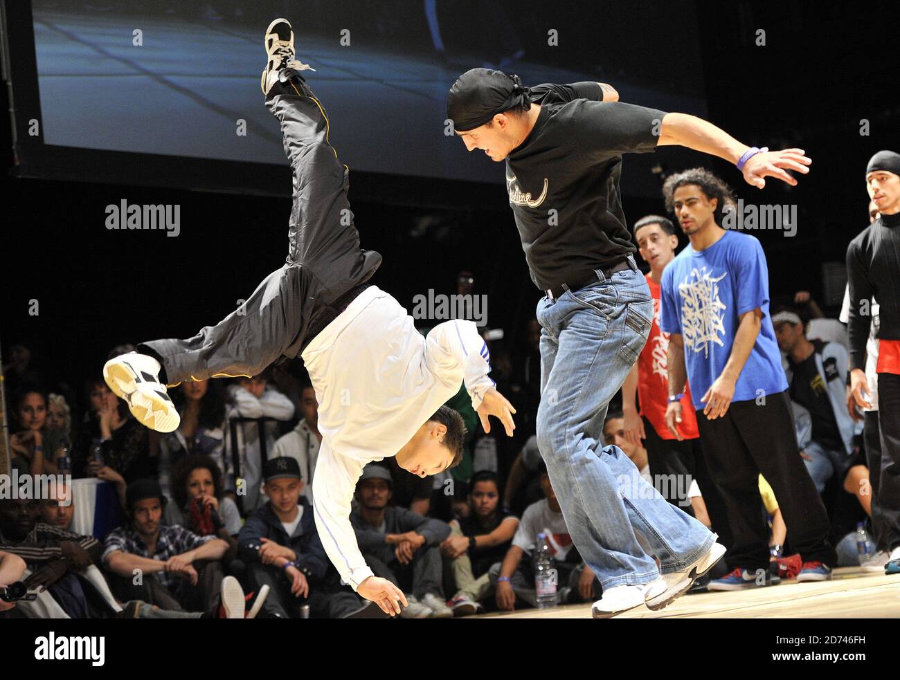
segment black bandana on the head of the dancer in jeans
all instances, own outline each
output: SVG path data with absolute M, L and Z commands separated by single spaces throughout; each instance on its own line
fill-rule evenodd
M 491 68 L 473 68 L 456 78 L 447 95 L 447 118 L 454 130 L 474 130 L 498 113 L 531 108 L 531 90 L 519 76 Z

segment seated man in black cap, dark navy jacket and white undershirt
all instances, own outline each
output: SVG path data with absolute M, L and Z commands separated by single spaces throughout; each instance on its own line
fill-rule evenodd
M 383 618 L 381 609 L 339 585 L 316 530 L 310 501 L 302 495 L 300 465 L 282 456 L 263 466 L 268 502 L 247 518 L 240 530 L 240 559 L 247 584 L 255 591 L 269 586 L 259 616 L 268 619 Z

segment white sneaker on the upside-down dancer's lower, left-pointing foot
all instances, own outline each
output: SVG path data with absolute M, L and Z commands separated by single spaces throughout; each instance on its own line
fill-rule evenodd
M 174 432 L 181 423 L 175 404 L 159 382 L 159 362 L 147 354 L 130 352 L 103 366 L 103 380 L 116 397 L 128 402 L 131 415 L 157 432 Z

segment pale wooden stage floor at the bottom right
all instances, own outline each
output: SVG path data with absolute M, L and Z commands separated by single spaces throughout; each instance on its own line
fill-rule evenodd
M 590 619 L 590 604 L 549 609 L 489 613 L 473 619 Z M 646 607 L 619 614 L 616 619 L 867 619 L 900 618 L 900 574 L 864 572 L 847 567 L 834 570 L 831 581 L 797 583 L 719 593 L 683 595 L 659 612 Z

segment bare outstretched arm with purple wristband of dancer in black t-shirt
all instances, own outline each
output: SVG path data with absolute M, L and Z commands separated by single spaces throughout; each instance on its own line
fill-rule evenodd
M 692 148 L 710 156 L 725 158 L 735 165 L 743 154 L 750 150 L 746 144 L 739 142 L 725 130 L 717 128 L 709 121 L 704 121 L 688 113 L 666 113 L 662 118 L 659 146 Z M 764 151 L 750 157 L 743 166 L 743 178 L 748 184 L 758 189 L 766 185 L 766 177 L 774 177 L 791 186 L 797 185 L 788 170 L 801 174 L 809 172 L 812 159 L 806 157 L 802 148 L 786 148 L 780 151 Z

